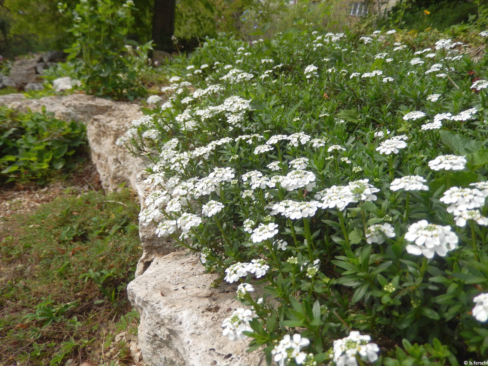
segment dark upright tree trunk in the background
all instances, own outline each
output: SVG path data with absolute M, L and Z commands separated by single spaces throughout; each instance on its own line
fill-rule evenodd
M 173 52 L 171 36 L 175 32 L 176 0 L 154 0 L 152 38 L 154 49 Z

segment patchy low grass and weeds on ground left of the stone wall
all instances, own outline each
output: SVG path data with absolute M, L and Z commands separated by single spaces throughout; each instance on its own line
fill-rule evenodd
M 101 323 L 128 310 L 140 256 L 139 203 L 128 189 L 41 205 L 0 227 L 0 365 L 85 356 Z M 20 361 L 20 364 L 18 363 Z

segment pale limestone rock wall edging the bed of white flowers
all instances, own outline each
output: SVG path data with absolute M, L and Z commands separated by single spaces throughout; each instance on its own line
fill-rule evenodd
M 39 100 L 10 94 L 0 96 L 0 104 L 33 112 L 44 105 L 56 118 L 85 123 L 103 187 L 114 190 L 128 183 L 143 203 L 148 187 L 141 171 L 148 162 L 115 144 L 131 122 L 142 117 L 138 105 L 81 94 Z M 142 362 L 148 366 L 264 366 L 262 353 L 245 352 L 246 340 L 231 342 L 222 336 L 223 320 L 240 307 L 233 299 L 236 285 L 211 287 L 219 276 L 204 273 L 198 257 L 176 251 L 171 237 L 158 238 L 154 224 L 139 228 L 142 257 L 127 292 L 141 314 Z

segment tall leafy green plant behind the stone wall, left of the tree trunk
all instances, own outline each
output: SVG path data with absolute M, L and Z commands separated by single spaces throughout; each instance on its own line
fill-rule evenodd
M 137 43 L 127 39 L 134 23 L 133 5 L 132 0 L 122 5 L 112 0 L 86 0 L 75 6 L 68 30 L 75 42 L 65 52 L 69 53 L 68 61 L 81 58 L 73 74 L 88 94 L 129 100 L 145 95 L 138 81 L 141 66 L 148 67 L 147 52 L 152 47 L 148 42 L 133 49 Z

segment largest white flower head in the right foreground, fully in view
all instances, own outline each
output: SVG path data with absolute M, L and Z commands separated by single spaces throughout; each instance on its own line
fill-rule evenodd
M 413 255 L 424 255 L 428 259 L 435 253 L 445 257 L 447 252 L 458 247 L 458 237 L 450 226 L 429 224 L 421 220 L 408 227 L 405 239 L 415 244 L 407 245 L 407 252 Z

